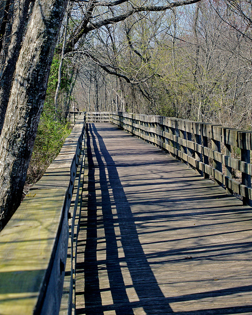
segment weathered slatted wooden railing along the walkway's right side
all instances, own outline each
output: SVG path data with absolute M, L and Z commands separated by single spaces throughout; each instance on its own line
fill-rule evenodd
M 252 131 L 178 118 L 111 113 L 111 122 L 133 135 L 168 151 L 193 167 L 204 178 L 213 178 L 227 193 L 252 205 Z M 240 158 L 231 153 L 240 153 Z M 240 182 L 233 170 L 241 173 Z

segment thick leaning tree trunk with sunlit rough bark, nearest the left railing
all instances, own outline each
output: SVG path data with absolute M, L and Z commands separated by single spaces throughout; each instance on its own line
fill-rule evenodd
M 67 0 L 35 0 L 0 136 L 0 229 L 20 204 Z

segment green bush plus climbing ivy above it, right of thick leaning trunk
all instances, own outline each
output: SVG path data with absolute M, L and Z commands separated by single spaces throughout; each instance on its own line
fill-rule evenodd
M 47 167 L 58 156 L 65 138 L 70 134 L 70 124 L 64 119 L 63 111 L 55 113 L 54 96 L 58 85 L 58 72 L 61 57 L 55 54 L 48 80 L 46 101 L 41 114 L 32 159 L 27 173 L 26 184 L 34 184 L 42 177 Z M 65 93 L 70 86 L 67 64 L 63 63 L 61 91 Z M 57 117 L 56 117 L 57 116 Z

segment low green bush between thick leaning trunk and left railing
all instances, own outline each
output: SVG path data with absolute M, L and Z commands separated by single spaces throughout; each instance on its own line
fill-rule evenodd
M 34 184 L 42 177 L 47 167 L 60 153 L 70 132 L 70 124 L 55 120 L 54 107 L 50 103 L 45 103 L 27 173 L 27 184 Z

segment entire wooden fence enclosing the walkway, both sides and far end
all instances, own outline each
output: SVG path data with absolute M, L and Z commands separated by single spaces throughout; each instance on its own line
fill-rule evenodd
M 168 151 L 251 204 L 252 131 L 121 112 L 86 117 Z M 59 156 L 0 233 L 0 315 L 74 314 L 84 142 L 81 114 Z

